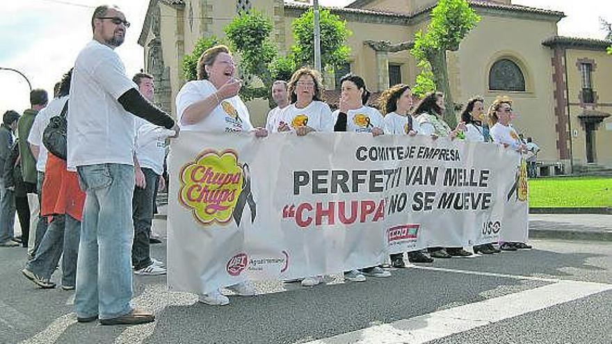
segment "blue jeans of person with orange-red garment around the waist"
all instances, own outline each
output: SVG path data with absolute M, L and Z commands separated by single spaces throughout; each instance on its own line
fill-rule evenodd
M 62 257 L 62 285 L 74 286 L 77 279 L 77 256 L 81 222 L 70 215 L 55 215 L 40 240 L 36 256 L 27 267 L 36 275 L 51 278 Z

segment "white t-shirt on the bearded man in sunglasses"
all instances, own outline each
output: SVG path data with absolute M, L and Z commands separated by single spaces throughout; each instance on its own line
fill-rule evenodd
M 77 56 L 67 115 L 67 165 L 134 165 L 134 115 L 117 99 L 138 88 L 113 49 L 95 40 Z

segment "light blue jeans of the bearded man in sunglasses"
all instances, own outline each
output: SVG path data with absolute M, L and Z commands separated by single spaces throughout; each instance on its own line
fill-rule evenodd
M 134 167 L 104 163 L 77 172 L 86 198 L 74 307 L 79 318 L 124 316 L 132 311 Z

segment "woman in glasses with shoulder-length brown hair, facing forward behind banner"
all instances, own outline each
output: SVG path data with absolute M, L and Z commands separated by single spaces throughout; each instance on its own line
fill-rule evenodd
M 323 80 L 315 69 L 302 67 L 294 72 L 287 85 L 291 105 L 282 110 L 277 131 L 295 131 L 298 136 L 313 131 L 334 131 L 332 110 L 321 101 L 322 90 Z M 322 276 L 312 276 L 306 277 L 301 283 L 302 286 L 316 286 L 322 281 Z

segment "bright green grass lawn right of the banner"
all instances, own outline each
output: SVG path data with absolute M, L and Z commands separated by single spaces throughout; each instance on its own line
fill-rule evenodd
M 611 177 L 560 177 L 529 180 L 531 207 L 612 206 Z

